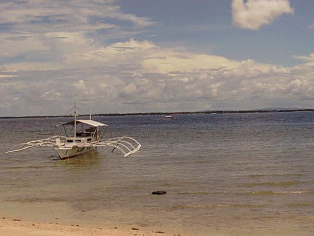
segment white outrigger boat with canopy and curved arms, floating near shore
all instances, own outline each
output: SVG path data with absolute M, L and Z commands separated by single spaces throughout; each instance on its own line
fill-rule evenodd
M 81 129 L 78 131 L 77 126 L 79 124 L 81 125 Z M 70 131 L 70 135 L 72 136 L 67 135 L 68 131 L 66 126 L 72 126 L 72 130 L 74 128 L 74 132 L 71 132 L 72 130 Z M 58 135 L 20 144 L 5 153 L 23 151 L 28 148 L 40 146 L 53 148 L 58 153 L 60 159 L 67 159 L 95 150 L 98 147 L 113 147 L 113 150 L 117 148 L 126 157 L 141 148 L 140 143 L 138 143 L 135 139 L 126 136 L 104 140 L 104 127 L 106 130 L 108 125 L 92 120 L 91 115 L 89 119 L 77 119 L 75 104 L 74 120 L 55 125 L 55 130 L 57 130 Z M 65 133 L 65 136 L 61 135 L 63 133 Z M 74 133 L 74 135 L 72 133 Z

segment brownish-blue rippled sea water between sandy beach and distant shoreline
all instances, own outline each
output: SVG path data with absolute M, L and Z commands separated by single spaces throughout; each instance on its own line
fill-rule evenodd
M 109 124 L 107 138 L 130 136 L 142 148 L 68 160 L 50 148 L 4 151 L 69 118 L 0 119 L 0 217 L 183 235 L 228 227 L 313 235 L 313 112 L 175 117 L 94 117 Z

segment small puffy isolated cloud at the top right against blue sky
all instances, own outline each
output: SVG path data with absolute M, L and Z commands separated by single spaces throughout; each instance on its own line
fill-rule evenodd
M 232 1 L 233 24 L 243 29 L 260 29 L 283 14 L 293 14 L 288 0 Z

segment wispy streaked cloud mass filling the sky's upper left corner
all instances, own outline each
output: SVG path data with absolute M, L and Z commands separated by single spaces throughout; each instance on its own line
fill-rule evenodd
M 123 13 L 115 0 L 0 1 L 0 9 L 1 59 L 27 70 L 35 69 L 27 63 L 36 62 L 50 69 L 56 62 L 60 68 L 62 50 L 67 56 L 78 56 L 75 51 L 85 54 L 95 49 L 93 43 L 103 46 L 106 39 L 136 35 L 136 30 L 155 24 L 149 18 Z

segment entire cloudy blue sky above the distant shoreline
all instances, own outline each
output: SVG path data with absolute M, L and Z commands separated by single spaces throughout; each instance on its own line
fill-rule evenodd
M 314 107 L 313 0 L 0 0 L 0 116 Z

